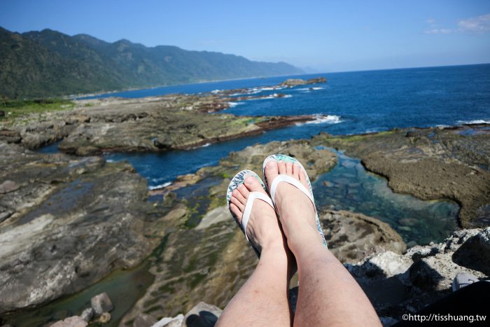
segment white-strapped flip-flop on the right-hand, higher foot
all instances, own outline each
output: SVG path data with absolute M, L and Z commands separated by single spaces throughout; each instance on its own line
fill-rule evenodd
M 269 183 L 269 181 L 267 181 L 267 177 L 265 176 L 265 166 L 270 161 L 277 161 L 277 162 L 284 161 L 284 162 L 291 162 L 293 165 L 294 164 L 298 165 L 304 172 L 304 176 L 306 176 L 307 178 L 308 188 L 305 188 L 304 185 L 297 179 L 293 179 L 293 177 L 284 174 L 277 175 L 274 178 L 274 181 L 272 181 L 272 184 Z M 323 246 L 327 247 L 327 241 L 325 241 L 325 235 L 323 235 L 323 230 L 321 230 L 320 219 L 318 219 L 318 212 L 316 211 L 315 200 L 313 197 L 313 190 L 311 189 L 311 183 L 309 181 L 309 176 L 307 174 L 306 169 L 304 169 L 303 165 L 301 165 L 301 162 L 299 162 L 293 157 L 290 157 L 289 155 L 282 155 L 282 154 L 269 155 L 267 158 L 265 158 L 264 163 L 262 165 L 262 175 L 264 176 L 264 180 L 267 183 L 267 186 L 270 186 L 269 194 L 272 199 L 272 203 L 275 204 L 274 198 L 276 195 L 276 188 L 281 182 L 286 182 L 291 184 L 292 186 L 295 186 L 295 188 L 301 190 L 302 193 L 304 193 L 304 195 L 306 195 L 309 198 L 309 200 L 311 200 L 311 203 L 313 203 L 313 207 L 315 208 L 316 229 L 318 230 L 318 234 L 320 234 L 321 242 L 323 243 Z

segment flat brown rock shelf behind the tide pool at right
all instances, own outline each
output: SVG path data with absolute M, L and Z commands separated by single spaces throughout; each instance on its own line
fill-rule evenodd
M 361 158 L 397 193 L 458 202 L 463 228 L 490 225 L 489 125 L 318 135 L 312 142 Z

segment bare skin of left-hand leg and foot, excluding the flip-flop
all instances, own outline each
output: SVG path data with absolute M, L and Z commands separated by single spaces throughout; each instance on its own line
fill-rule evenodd
M 253 177 L 232 193 L 230 208 L 241 220 L 251 191 L 265 193 Z M 255 200 L 248 239 L 261 251 L 255 271 L 225 307 L 216 326 L 290 326 L 288 286 L 293 273 L 291 254 L 272 207 Z M 244 249 L 244 251 L 251 251 Z

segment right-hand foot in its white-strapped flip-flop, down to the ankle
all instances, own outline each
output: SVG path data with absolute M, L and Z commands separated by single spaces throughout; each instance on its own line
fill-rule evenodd
M 293 158 L 283 156 L 288 160 L 274 160 L 274 157 L 272 160 L 269 159 L 270 157 L 266 159 L 264 175 L 279 212 L 279 220 L 288 239 L 289 248 L 294 253 L 295 249 L 304 245 L 305 242 L 323 243 L 326 246 L 323 232 L 319 228 L 314 199 L 304 168 L 294 162 Z M 274 183 L 278 175 L 289 176 L 289 181 Z M 276 185 L 273 186 L 273 183 Z M 296 186 L 291 183 L 295 183 Z

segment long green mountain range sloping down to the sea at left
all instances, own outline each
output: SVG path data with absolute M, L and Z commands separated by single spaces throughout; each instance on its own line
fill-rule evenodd
M 301 74 L 285 62 L 253 62 L 237 55 L 149 48 L 120 40 L 50 29 L 18 34 L 0 27 L 0 95 L 55 97 L 125 88 L 229 78 Z

